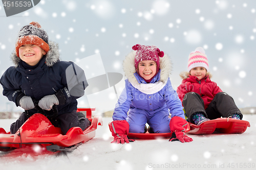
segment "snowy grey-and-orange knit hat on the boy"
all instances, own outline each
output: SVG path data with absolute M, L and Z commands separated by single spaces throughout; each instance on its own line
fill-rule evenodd
M 34 44 L 42 48 L 46 53 L 49 51 L 48 35 L 45 30 L 41 29 L 38 22 L 31 22 L 24 26 L 18 33 L 16 41 L 16 55 L 19 57 L 18 49 L 25 44 Z

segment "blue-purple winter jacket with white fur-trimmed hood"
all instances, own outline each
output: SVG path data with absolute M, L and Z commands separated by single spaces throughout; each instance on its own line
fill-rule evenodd
M 138 109 L 145 110 L 150 115 L 158 112 L 169 112 L 172 117 L 185 118 L 177 92 L 173 89 L 169 80 L 170 71 L 172 70 L 170 58 L 167 55 L 160 58 L 158 74 L 152 79 L 151 83 L 146 83 L 135 70 L 135 54 L 136 51 L 131 52 L 123 62 L 127 79 L 125 80 L 125 88 L 116 104 L 113 120 L 125 120 L 129 110 L 129 114 L 133 114 Z

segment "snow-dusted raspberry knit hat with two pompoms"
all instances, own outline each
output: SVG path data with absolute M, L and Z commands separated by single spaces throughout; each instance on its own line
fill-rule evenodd
M 133 47 L 133 50 L 137 50 L 135 55 L 135 68 L 137 69 L 138 64 L 140 61 L 143 60 L 153 60 L 157 63 L 157 69 L 159 70 L 160 63 L 159 63 L 159 57 L 163 57 L 164 53 L 159 50 L 158 47 L 152 45 L 140 45 L 136 44 Z

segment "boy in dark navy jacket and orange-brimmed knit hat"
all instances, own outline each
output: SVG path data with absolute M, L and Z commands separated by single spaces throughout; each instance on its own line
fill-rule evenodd
M 59 60 L 58 45 L 48 41 L 48 35 L 39 23 L 31 22 L 19 31 L 11 59 L 15 66 L 9 67 L 0 80 L 3 94 L 27 111 L 11 124 L 12 134 L 34 113 L 54 115 L 53 105 L 57 105 L 58 115 L 49 119 L 53 124 L 58 122 L 63 134 L 72 127 L 84 130 L 89 126 L 89 120 L 76 112 L 76 99 L 88 86 L 83 70 L 73 62 Z M 73 89 L 78 90 L 72 94 L 66 75 L 72 75 L 72 72 L 66 72 L 67 68 L 83 73 L 83 81 L 76 84 Z

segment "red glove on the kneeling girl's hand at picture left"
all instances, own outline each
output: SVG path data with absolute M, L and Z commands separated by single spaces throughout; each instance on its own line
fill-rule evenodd
M 129 139 L 127 134 L 129 133 L 129 123 L 126 120 L 114 120 L 109 124 L 110 131 L 114 140 L 111 143 L 130 143 L 134 142 L 134 139 Z

